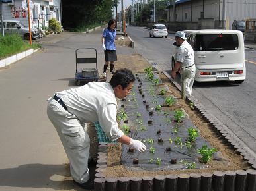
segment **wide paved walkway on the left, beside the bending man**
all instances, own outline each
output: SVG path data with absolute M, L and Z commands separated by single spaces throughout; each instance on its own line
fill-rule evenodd
M 0 190 L 79 190 L 46 99 L 74 86 L 75 49 L 97 48 L 102 70 L 100 32 L 45 38 L 44 50 L 0 70 Z

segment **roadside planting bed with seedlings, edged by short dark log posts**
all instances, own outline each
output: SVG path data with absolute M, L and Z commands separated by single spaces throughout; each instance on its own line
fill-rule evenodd
M 124 65 L 132 67 L 125 61 Z M 120 120 L 120 128 L 144 141 L 148 151 L 139 153 L 121 144 L 100 144 L 95 190 L 256 190 L 255 158 L 239 140 L 192 97 L 179 99 L 180 92 L 164 74 L 159 74 L 162 84 L 151 86 L 138 65 L 135 68 L 139 80 L 132 93 L 120 101 L 120 111 L 128 115 L 128 119 Z M 163 89 L 167 90 L 165 95 L 158 95 Z M 166 97 L 174 98 L 171 107 L 166 107 Z M 191 101 L 194 109 L 189 107 Z M 181 122 L 175 121 L 177 109 L 185 114 Z M 189 145 L 187 129 L 191 127 L 199 136 Z M 175 144 L 177 137 L 181 142 Z M 198 153 L 204 144 L 218 150 L 208 163 L 202 163 Z

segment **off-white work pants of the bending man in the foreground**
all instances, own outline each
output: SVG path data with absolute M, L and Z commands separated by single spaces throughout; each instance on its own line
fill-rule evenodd
M 76 182 L 89 180 L 87 167 L 90 138 L 75 115 L 69 113 L 54 99 L 50 99 L 47 115 L 56 128 L 70 162 L 70 171 Z

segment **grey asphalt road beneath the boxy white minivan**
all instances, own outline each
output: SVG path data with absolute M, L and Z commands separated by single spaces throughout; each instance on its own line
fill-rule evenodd
M 128 26 L 136 50 L 153 65 L 170 72 L 174 35 L 149 38 L 149 30 Z M 194 84 L 196 99 L 256 153 L 256 50 L 245 49 L 247 79 L 243 84 L 204 82 Z

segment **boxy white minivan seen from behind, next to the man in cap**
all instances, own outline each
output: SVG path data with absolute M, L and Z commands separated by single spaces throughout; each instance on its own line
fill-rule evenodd
M 195 81 L 234 81 L 246 77 L 243 33 L 237 30 L 185 30 L 187 41 L 194 49 Z M 175 55 L 172 57 L 172 67 Z

